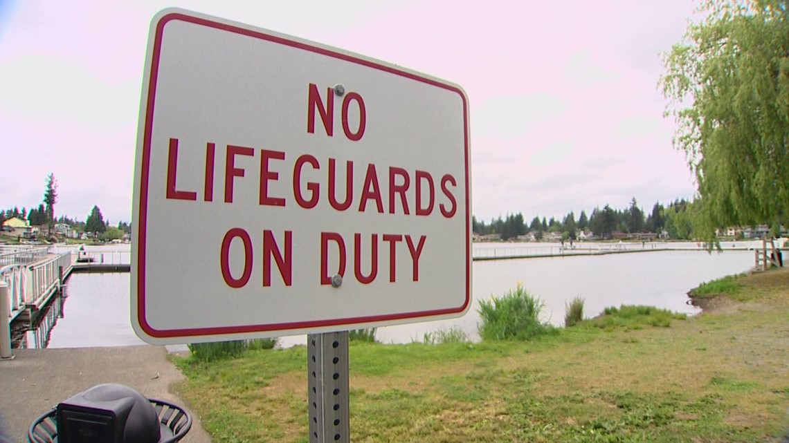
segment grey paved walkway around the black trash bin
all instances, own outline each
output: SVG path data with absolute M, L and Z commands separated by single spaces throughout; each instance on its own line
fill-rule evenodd
M 170 401 L 192 415 L 185 443 L 210 443 L 199 417 L 170 385 L 184 379 L 167 361 L 163 346 L 119 348 L 17 349 L 0 361 L 0 416 L 13 441 L 28 441 L 33 421 L 55 404 L 101 383 L 121 383 L 144 396 Z

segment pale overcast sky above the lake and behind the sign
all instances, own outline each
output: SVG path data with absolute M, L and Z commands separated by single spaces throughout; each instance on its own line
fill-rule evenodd
M 460 84 L 469 96 L 473 214 L 576 216 L 690 198 L 657 82 L 690 0 L 55 2 L 0 0 L 0 208 L 93 205 L 131 218 L 148 28 L 178 6 Z

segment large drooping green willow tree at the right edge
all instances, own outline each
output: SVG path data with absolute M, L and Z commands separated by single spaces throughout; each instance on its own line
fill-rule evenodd
M 789 215 L 789 2 L 708 0 L 660 80 L 698 197 L 697 235 Z

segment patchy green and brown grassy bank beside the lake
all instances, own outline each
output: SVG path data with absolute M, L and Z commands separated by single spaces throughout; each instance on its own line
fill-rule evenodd
M 617 309 L 527 342 L 353 342 L 351 440 L 776 441 L 789 270 L 736 282 L 695 318 Z M 215 442 L 307 441 L 305 348 L 176 361 Z

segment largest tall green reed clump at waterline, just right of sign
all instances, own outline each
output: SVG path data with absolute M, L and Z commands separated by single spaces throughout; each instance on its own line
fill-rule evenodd
M 482 340 L 526 341 L 558 333 L 558 329 L 540 321 L 544 306 L 540 297 L 531 295 L 521 283 L 504 296 L 480 300 L 481 323 L 477 325 L 480 337 Z

